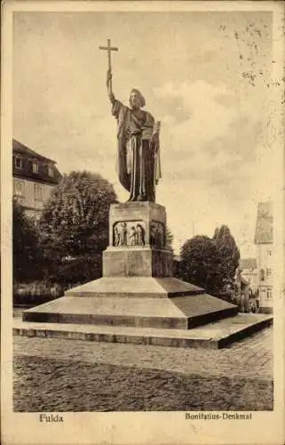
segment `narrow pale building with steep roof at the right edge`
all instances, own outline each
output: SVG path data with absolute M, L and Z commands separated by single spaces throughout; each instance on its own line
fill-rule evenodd
M 258 296 L 261 312 L 273 312 L 273 203 L 257 207 L 255 244 L 257 246 Z

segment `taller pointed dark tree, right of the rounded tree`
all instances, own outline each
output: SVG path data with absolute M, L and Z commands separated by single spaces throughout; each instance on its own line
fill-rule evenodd
M 223 277 L 223 285 L 230 284 L 233 287 L 235 271 L 241 257 L 239 248 L 236 246 L 234 237 L 226 225 L 216 228 L 213 240 L 218 249 L 220 258 L 218 267 L 219 273 Z

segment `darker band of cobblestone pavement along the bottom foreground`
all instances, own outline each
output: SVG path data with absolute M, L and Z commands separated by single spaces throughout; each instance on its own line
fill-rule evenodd
M 18 355 L 14 410 L 188 411 L 273 409 L 273 382 Z

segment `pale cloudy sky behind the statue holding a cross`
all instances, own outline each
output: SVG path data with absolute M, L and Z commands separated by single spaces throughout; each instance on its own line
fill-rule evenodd
M 115 171 L 116 122 L 107 99 L 111 38 L 115 97 L 132 87 L 162 121 L 162 181 L 179 248 L 226 224 L 254 256 L 257 202 L 273 195 L 270 12 L 14 12 L 13 137 L 89 170 L 128 194 Z

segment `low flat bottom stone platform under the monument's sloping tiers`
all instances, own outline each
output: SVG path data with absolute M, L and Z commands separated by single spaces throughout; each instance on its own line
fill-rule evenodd
M 13 320 L 13 335 L 107 343 L 220 349 L 273 323 L 272 315 L 238 314 L 190 330 L 123 328 Z

